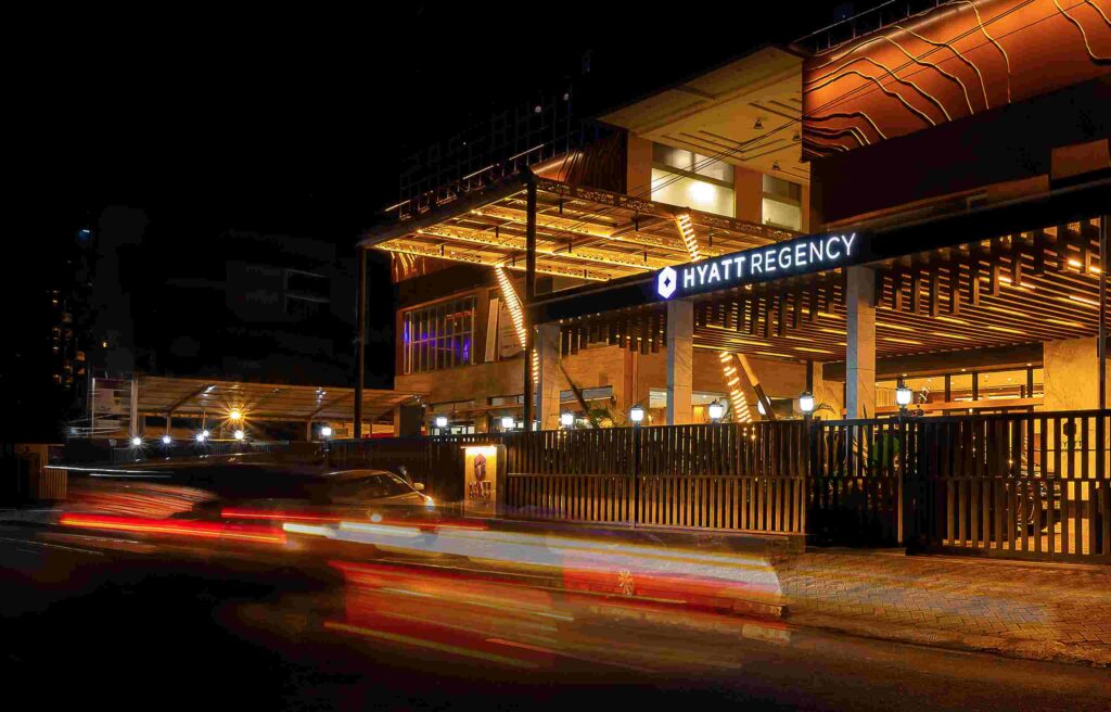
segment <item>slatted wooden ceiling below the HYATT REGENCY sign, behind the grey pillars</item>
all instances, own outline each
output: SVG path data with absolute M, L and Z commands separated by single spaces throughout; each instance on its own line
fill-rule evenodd
M 1093 220 L 873 264 L 877 357 L 1094 334 L 1098 232 Z M 841 270 L 832 270 L 699 298 L 694 345 L 783 360 L 842 361 L 843 278 Z M 564 352 L 594 341 L 657 351 L 665 345 L 664 307 L 569 320 L 562 331 Z

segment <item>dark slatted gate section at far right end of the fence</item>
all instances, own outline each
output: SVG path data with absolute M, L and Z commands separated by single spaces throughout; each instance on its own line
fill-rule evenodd
M 927 419 L 909 543 L 1043 560 L 1111 560 L 1108 411 Z

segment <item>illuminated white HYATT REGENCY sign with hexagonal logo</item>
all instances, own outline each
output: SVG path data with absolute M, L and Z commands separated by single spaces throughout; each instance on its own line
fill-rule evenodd
M 663 299 L 768 282 L 848 267 L 869 260 L 867 237 L 859 232 L 805 235 L 743 252 L 665 267 L 655 275 Z

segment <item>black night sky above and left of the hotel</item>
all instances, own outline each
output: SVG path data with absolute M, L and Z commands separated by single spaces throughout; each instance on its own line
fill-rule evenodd
M 50 279 L 60 245 L 106 205 L 353 245 L 396 199 L 401 158 L 491 109 L 570 81 L 597 113 L 848 8 L 761 4 L 690 7 L 689 26 L 680 6 L 650 3 L 13 18 L 9 245 L 24 259 L 7 265 L 9 303 Z M 181 249 L 166 244 L 166 259 Z M 40 328 L 13 317 L 17 340 Z M 0 377 L 13 375 L 6 359 Z

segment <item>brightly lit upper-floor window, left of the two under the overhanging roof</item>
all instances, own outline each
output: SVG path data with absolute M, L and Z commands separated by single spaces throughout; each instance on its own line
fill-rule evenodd
M 733 167 L 693 151 L 652 146 L 652 200 L 732 218 Z

